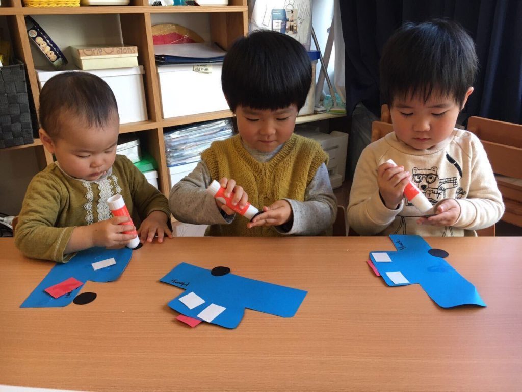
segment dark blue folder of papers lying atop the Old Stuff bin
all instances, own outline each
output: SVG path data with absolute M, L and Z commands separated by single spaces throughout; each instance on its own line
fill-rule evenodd
M 226 51 L 215 43 L 180 43 L 154 45 L 154 56 L 158 64 L 201 64 L 222 62 Z

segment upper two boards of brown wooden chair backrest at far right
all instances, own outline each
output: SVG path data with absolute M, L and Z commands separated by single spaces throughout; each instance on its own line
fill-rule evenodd
M 522 178 L 522 125 L 473 116 L 468 131 L 482 142 L 495 174 Z

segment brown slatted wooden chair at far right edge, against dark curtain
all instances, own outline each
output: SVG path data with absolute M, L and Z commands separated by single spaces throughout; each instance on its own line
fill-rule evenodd
M 522 125 L 473 116 L 468 130 L 488 153 L 506 207 L 502 220 L 522 227 Z

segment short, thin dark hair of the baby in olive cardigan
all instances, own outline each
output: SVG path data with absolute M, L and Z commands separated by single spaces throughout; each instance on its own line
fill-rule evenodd
M 87 126 L 102 128 L 118 114 L 116 98 L 99 76 L 86 72 L 64 72 L 53 76 L 40 93 L 40 123 L 51 137 L 60 135 L 64 113 Z

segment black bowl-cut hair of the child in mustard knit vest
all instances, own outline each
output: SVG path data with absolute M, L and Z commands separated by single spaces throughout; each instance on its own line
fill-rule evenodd
M 303 46 L 285 34 L 254 31 L 236 40 L 223 62 L 221 85 L 230 109 L 238 105 L 300 110 L 312 84 L 312 63 Z

